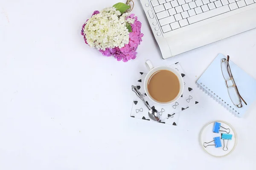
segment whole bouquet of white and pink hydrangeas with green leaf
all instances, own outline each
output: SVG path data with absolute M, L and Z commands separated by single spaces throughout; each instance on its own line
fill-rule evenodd
M 94 11 L 82 26 L 81 35 L 91 48 L 97 48 L 104 56 L 117 61 L 135 59 L 142 41 L 141 23 L 134 14 L 128 14 L 133 6 L 129 2 L 117 3 L 102 11 Z

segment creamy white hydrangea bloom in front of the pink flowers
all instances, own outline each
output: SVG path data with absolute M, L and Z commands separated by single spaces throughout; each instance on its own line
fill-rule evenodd
M 122 14 L 116 8 L 105 8 L 99 14 L 93 15 L 84 26 L 84 34 L 88 45 L 105 50 L 106 48 L 122 48 L 129 42 L 128 13 Z

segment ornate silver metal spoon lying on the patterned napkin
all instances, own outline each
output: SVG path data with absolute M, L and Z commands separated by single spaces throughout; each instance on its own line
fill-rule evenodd
M 159 113 L 158 113 L 158 111 L 156 110 L 156 109 L 153 109 L 153 108 L 151 108 L 146 102 L 145 102 L 145 100 L 143 99 L 143 96 L 142 96 L 142 94 L 140 93 L 140 91 L 138 90 L 138 88 L 136 87 L 136 86 L 134 86 L 134 85 L 132 85 L 131 86 L 131 90 L 132 91 L 134 91 L 134 93 L 138 96 L 138 97 L 140 97 L 140 99 L 143 101 L 143 103 L 147 106 L 147 108 L 148 108 L 148 116 L 152 119 L 152 120 L 154 120 L 154 121 L 160 121 L 160 115 L 159 115 Z

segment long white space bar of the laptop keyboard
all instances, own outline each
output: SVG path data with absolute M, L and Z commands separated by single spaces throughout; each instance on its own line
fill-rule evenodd
M 201 6 L 203 11 L 204 11 L 204 6 L 207 6 L 207 5 Z M 207 6 L 207 8 L 208 8 L 208 6 Z M 208 8 L 208 10 L 209 10 L 209 8 Z M 210 11 L 205 11 L 204 13 L 197 14 L 197 15 L 194 15 L 192 17 L 188 17 L 187 19 L 189 21 L 189 24 L 192 24 L 192 23 L 196 23 L 196 22 L 201 21 L 201 20 L 205 20 L 205 19 L 210 18 L 210 17 L 214 17 L 214 16 L 219 15 L 219 14 L 223 14 L 223 13 L 228 12 L 228 11 L 230 11 L 230 8 L 226 5 L 226 6 L 221 6 L 219 8 L 212 9 Z

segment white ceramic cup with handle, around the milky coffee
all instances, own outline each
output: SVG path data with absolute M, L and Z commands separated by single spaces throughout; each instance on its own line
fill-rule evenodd
M 146 65 L 146 67 L 148 68 L 148 71 L 149 71 L 148 74 L 146 75 L 145 81 L 144 81 L 144 89 L 145 89 L 145 93 L 147 94 L 148 98 L 151 99 L 153 102 L 155 102 L 157 104 L 160 104 L 160 105 L 169 105 L 169 104 L 172 104 L 172 103 L 176 102 L 180 98 L 180 96 L 183 94 L 183 90 L 184 90 L 184 82 L 183 82 L 183 78 L 182 78 L 181 74 L 175 68 L 172 68 L 172 67 L 167 66 L 167 65 L 161 65 L 161 66 L 158 66 L 158 67 L 154 67 L 150 60 L 146 60 L 145 65 Z M 180 91 L 179 91 L 178 95 L 175 97 L 175 99 L 173 99 L 169 102 L 159 102 L 159 101 L 153 99 L 153 97 L 151 97 L 149 92 L 148 92 L 148 80 L 149 80 L 149 78 L 152 76 L 152 74 L 154 74 L 155 72 L 160 71 L 160 70 L 171 71 L 172 73 L 174 73 L 178 77 L 179 82 L 180 82 Z

